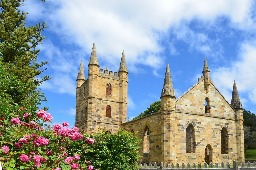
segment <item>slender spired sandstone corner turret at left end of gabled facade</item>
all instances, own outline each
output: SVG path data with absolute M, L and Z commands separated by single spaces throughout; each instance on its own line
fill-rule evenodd
M 169 63 L 167 63 L 164 85 L 161 93 L 161 145 L 162 159 L 164 162 L 175 160 L 175 94 Z

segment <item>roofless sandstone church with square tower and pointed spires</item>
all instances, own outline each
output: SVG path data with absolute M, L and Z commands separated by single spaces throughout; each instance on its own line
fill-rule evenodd
M 81 61 L 77 76 L 76 125 L 88 133 L 106 127 L 137 131 L 142 162 L 244 161 L 243 112 L 236 83 L 229 103 L 214 86 L 205 58 L 203 76 L 175 96 L 167 63 L 161 111 L 126 122 L 128 71 L 124 51 L 118 72 L 99 69 L 95 44 L 88 77 Z M 207 103 L 207 106 L 205 106 Z

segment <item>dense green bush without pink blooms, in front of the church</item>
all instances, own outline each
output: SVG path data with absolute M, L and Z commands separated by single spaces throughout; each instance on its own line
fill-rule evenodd
M 87 137 L 94 139 L 94 146 L 88 148 L 82 141 L 75 141 L 74 144 L 67 150 L 70 153 L 79 153 L 87 150 L 86 153 L 80 156 L 80 161 L 91 161 L 92 165 L 104 170 L 134 170 L 137 169 L 136 162 L 140 158 L 137 139 L 135 133 L 127 132 L 124 129 L 119 129 L 117 134 L 110 133 L 84 134 Z

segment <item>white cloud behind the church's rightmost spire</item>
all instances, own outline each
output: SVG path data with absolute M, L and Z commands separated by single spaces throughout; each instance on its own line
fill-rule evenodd
M 246 98 L 256 103 L 256 42 L 241 45 L 238 60 L 230 61 L 228 67 L 219 67 L 212 71 L 212 80 L 221 93 L 231 101 L 233 81 L 236 81 L 240 99 L 246 104 Z M 241 97 L 242 96 L 242 97 Z

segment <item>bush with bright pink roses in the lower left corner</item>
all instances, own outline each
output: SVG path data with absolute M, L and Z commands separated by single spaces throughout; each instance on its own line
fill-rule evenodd
M 50 122 L 52 116 L 38 109 L 45 98 L 36 91 L 19 103 L 22 107 L 14 103 L 5 91 L 22 93 L 29 83 L 17 81 L 17 77 L 8 74 L 6 69 L 8 67 L 0 60 L 0 158 L 3 169 L 91 169 L 88 162 L 79 163 L 81 152 L 69 153 L 66 148 L 78 140 L 90 148 L 93 139 L 84 138 L 75 126 L 68 128 L 67 122 L 47 127 L 46 122 Z

